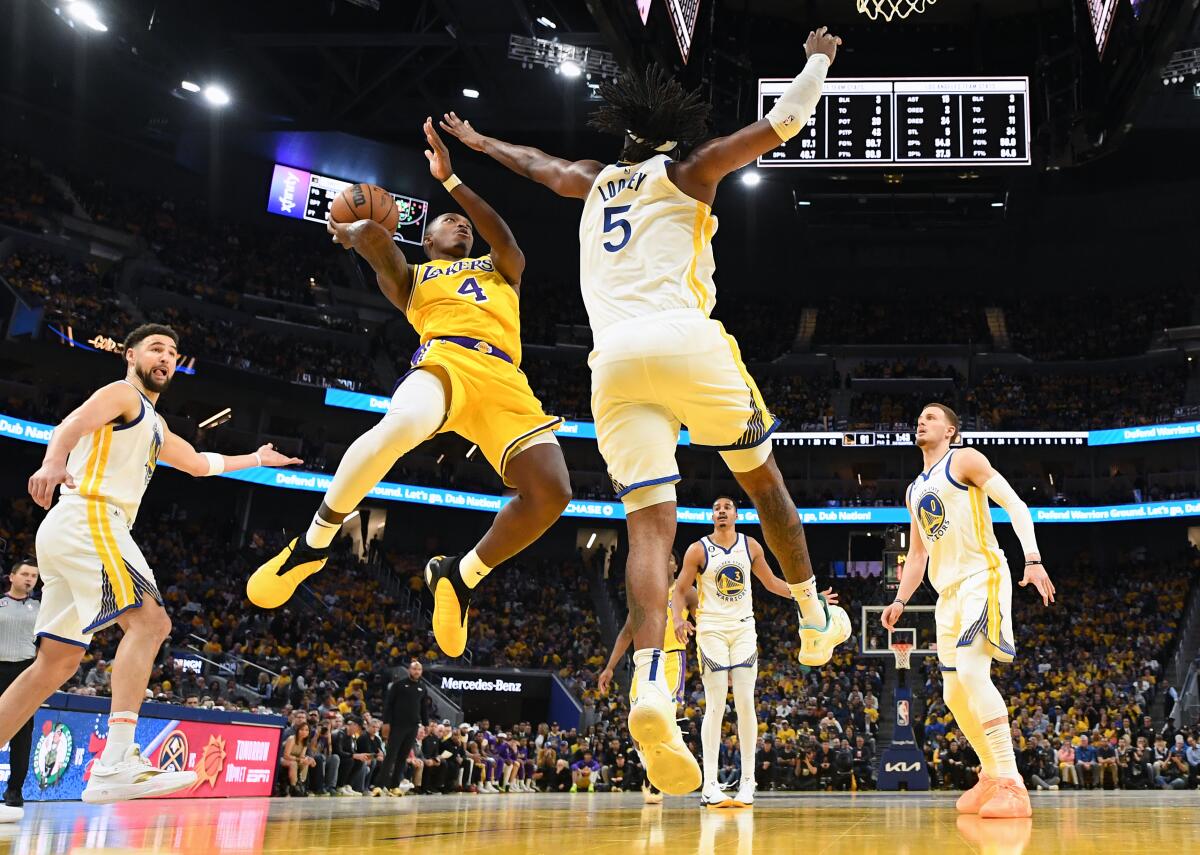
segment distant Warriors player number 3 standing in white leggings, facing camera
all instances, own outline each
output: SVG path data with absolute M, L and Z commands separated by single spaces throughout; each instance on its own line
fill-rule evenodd
M 704 749 L 701 803 L 706 807 L 754 805 L 754 757 L 758 742 L 754 687 L 758 680 L 758 633 L 755 629 L 750 575 L 757 576 L 772 593 L 786 598 L 792 596 L 787 582 L 772 572 L 758 542 L 739 534 L 737 522 L 737 502 L 730 496 L 718 496 L 713 502 L 713 533 L 688 548 L 671 597 L 672 603 L 683 603 L 698 581 L 695 632 L 696 658 L 700 659 L 704 683 L 704 723 L 700 735 Z M 830 604 L 838 602 L 832 590 L 822 593 Z M 680 609 L 672 609 L 671 617 L 676 636 L 686 642 L 691 624 Z M 716 755 L 721 747 L 725 699 L 731 682 L 738 713 L 742 781 L 737 795 L 726 799 L 716 781 Z

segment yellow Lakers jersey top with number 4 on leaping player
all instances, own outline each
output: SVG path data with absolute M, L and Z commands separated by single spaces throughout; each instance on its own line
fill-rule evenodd
M 404 315 L 422 345 L 430 339 L 469 336 L 500 348 L 515 365 L 521 364 L 517 292 L 491 256 L 414 265 Z

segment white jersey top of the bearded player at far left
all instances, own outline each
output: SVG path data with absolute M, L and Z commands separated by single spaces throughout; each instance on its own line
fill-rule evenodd
M 150 477 L 158 465 L 158 453 L 166 436 L 162 419 L 154 405 L 140 390 L 138 397 L 142 412 L 136 419 L 126 424 L 104 425 L 79 440 L 71 449 L 67 472 L 76 485 L 62 488 L 64 496 L 115 504 L 125 512 L 131 526 Z

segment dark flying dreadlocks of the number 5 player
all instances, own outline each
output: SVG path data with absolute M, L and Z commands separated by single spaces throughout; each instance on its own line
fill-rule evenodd
M 628 143 L 626 160 L 646 160 L 667 142 L 695 143 L 708 132 L 713 106 L 695 90 L 686 91 L 658 64 L 644 72 L 625 72 L 600 85 L 605 104 L 588 120 L 604 133 L 640 137 Z

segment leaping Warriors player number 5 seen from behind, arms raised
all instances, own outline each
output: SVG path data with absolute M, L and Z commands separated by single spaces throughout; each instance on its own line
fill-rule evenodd
M 592 119 L 623 139 L 620 161 L 565 161 L 484 137 L 456 115 L 442 127 L 560 196 L 584 199 L 580 286 L 592 325 L 592 413 L 596 438 L 625 504 L 625 568 L 637 699 L 629 715 L 650 781 L 665 793 L 701 784 L 665 682 L 662 570 L 676 534 L 680 425 L 691 444 L 721 453 L 754 501 L 767 545 L 800 610 L 800 660 L 821 665 L 850 635 L 850 618 L 818 596 L 796 504 L 775 466 L 778 420 L 745 370 L 737 342 L 709 315 L 716 303 L 712 204 L 721 180 L 799 133 L 821 97 L 841 42 L 809 34 L 804 67 L 766 118 L 683 156 L 680 142 L 706 136 L 710 106 L 662 68 L 600 86 Z M 641 684 L 647 683 L 646 690 Z

